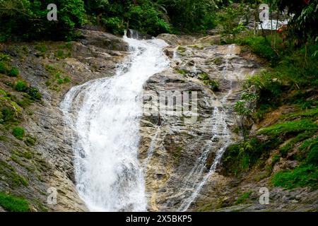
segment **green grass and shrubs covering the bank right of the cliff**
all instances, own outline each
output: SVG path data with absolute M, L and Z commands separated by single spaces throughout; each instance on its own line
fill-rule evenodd
M 235 112 L 238 131 L 242 131 L 245 141 L 228 147 L 223 155 L 223 173 L 240 176 L 251 169 L 265 169 L 257 178 L 271 177 L 273 186 L 317 189 L 318 38 L 314 21 L 317 21 L 318 4 L 317 1 L 267 2 L 272 9 L 288 6 L 288 11 L 295 13 L 287 27 L 270 35 L 239 34 L 235 30 L 240 24 L 229 21 L 226 11 L 223 15 L 228 28 L 224 30 L 225 35 L 234 35 L 229 41 L 243 45 L 243 54 L 252 51 L 270 66 L 243 85 L 242 99 L 236 103 Z M 235 36 L 236 33 L 239 35 Z M 249 133 L 252 124 L 271 117 L 266 113 L 280 112 L 279 108 L 285 106 L 290 106 L 292 112 L 282 112 L 271 126 L 259 129 L 257 134 Z M 279 152 L 273 154 L 275 150 Z M 272 174 L 273 166 L 286 160 L 295 160 L 298 166 Z

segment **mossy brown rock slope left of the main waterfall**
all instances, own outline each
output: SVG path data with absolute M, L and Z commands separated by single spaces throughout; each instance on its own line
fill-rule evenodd
M 20 71 L 18 78 L 1 75 L 1 90 L 10 93 L 11 99 L 16 96 L 18 102 L 23 94 L 10 84 L 23 80 L 42 93 L 40 102 L 23 107 L 18 115 L 18 125 L 34 138 L 34 144 L 11 134 L 16 122 L 0 124 L 0 191 L 25 197 L 33 211 L 87 210 L 74 186 L 73 150 L 59 104 L 71 86 L 112 76 L 128 49 L 114 35 L 81 32 L 78 42 L 13 43 L 1 47 L 1 52 L 11 57 L 10 64 Z M 57 204 L 47 203 L 54 191 L 47 191 L 49 188 L 57 189 Z

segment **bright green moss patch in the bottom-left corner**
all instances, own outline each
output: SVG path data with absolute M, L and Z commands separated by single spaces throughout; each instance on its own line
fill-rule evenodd
M 28 212 L 30 211 L 30 206 L 25 198 L 20 198 L 13 195 L 5 194 L 0 192 L 0 206 L 5 210 L 11 212 Z

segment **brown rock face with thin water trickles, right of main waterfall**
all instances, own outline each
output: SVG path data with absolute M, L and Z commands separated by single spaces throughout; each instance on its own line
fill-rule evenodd
M 211 188 L 209 175 L 217 174 L 212 168 L 218 168 L 220 152 L 240 139 L 232 133 L 233 105 L 240 97 L 241 82 L 259 69 L 259 63 L 240 57 L 235 44 L 216 45 L 218 36 L 160 38 L 171 44 L 165 49 L 171 67 L 144 85 L 144 102 L 163 109 L 160 105 L 166 102 L 157 102 L 158 92 L 169 96 L 190 91 L 197 95 L 193 106 L 197 114 L 194 121 L 187 119 L 187 112 L 143 117 L 140 153 L 142 161 L 148 162 L 149 210 L 191 210 L 192 202 Z

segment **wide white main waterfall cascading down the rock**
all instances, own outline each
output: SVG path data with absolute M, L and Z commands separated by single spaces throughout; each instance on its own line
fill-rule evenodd
M 143 83 L 169 66 L 163 40 L 134 40 L 130 56 L 112 78 L 69 90 L 61 109 L 75 132 L 78 193 L 93 211 L 146 210 L 145 182 L 138 160 Z

